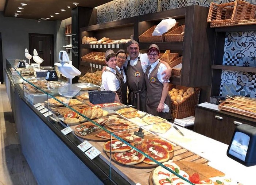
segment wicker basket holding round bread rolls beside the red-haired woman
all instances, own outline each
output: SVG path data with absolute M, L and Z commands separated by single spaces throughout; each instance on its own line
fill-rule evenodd
M 178 85 L 169 85 L 169 90 L 172 88 L 175 89 L 184 89 L 187 90 L 189 87 L 178 86 Z M 194 88 L 195 93 L 191 94 L 187 99 L 183 100 L 183 102 L 179 104 L 171 103 L 171 114 L 172 118 L 182 119 L 187 118 L 189 116 L 195 115 L 195 105 L 199 102 L 200 89 Z

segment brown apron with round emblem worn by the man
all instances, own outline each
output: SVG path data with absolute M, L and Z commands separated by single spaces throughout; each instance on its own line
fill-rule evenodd
M 144 72 L 141 67 L 140 57 L 135 66 L 127 65 L 127 81 L 128 81 L 128 101 L 129 104 L 135 106 L 136 109 L 146 111 L 146 83 Z

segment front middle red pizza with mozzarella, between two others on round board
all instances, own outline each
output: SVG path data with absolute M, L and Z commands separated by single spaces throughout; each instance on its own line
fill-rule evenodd
M 115 153 L 114 159 L 121 164 L 134 165 L 141 163 L 145 159 L 145 156 L 135 149 L 131 149 L 127 152 Z

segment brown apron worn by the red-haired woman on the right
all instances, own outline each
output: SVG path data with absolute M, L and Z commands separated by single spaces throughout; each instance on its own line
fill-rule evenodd
M 162 90 L 163 90 L 163 84 L 158 80 L 157 78 L 157 72 L 158 68 L 160 66 L 160 62 L 158 65 L 156 65 L 155 69 L 153 69 L 148 77 L 149 70 L 151 69 L 151 66 L 149 66 L 146 70 L 145 74 L 145 81 L 147 85 L 147 99 L 146 99 L 146 107 L 147 112 L 154 115 L 154 116 L 160 116 L 164 119 L 171 119 L 171 97 L 169 93 L 166 96 L 166 99 L 164 101 L 165 104 L 167 104 L 170 108 L 169 112 L 157 112 L 156 109 L 158 108 L 158 104 L 160 103 L 161 96 L 162 96 Z

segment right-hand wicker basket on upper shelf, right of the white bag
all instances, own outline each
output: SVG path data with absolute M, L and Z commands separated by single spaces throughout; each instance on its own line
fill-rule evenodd
M 164 39 L 166 42 L 183 42 L 185 32 L 185 25 L 181 25 L 175 30 L 169 31 L 164 34 Z

